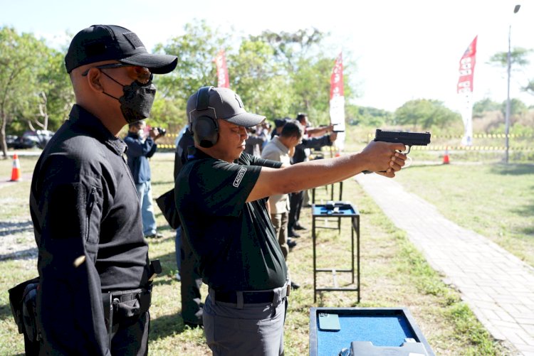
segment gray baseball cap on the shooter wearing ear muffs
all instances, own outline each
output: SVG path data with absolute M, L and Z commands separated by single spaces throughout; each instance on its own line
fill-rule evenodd
M 239 95 L 225 87 L 201 87 L 187 100 L 189 127 L 197 117 L 209 116 L 223 119 L 239 126 L 261 124 L 265 117 L 246 112 Z

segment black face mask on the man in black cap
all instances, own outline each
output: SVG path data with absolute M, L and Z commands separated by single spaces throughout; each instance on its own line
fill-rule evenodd
M 105 72 L 103 74 L 122 87 L 124 95 L 120 98 L 114 97 L 107 92 L 104 92 L 104 94 L 120 102 L 120 111 L 128 124 L 150 116 L 150 109 L 152 109 L 156 95 L 156 87 L 152 84 L 152 80 L 147 84 L 141 84 L 135 80 L 130 85 L 122 85 Z

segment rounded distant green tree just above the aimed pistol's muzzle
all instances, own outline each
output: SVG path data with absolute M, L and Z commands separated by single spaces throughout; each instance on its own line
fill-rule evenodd
M 460 114 L 452 112 L 442 102 L 434 99 L 410 100 L 394 112 L 396 124 L 412 125 L 414 129 L 430 129 L 434 125 L 444 127 L 456 120 L 461 120 Z

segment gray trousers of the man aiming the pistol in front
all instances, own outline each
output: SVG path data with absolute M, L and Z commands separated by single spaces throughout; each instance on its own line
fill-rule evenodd
M 288 306 L 283 289 L 286 287 L 274 290 L 274 303 L 237 305 L 215 301 L 210 288 L 202 318 L 213 355 L 283 355 L 283 324 Z

